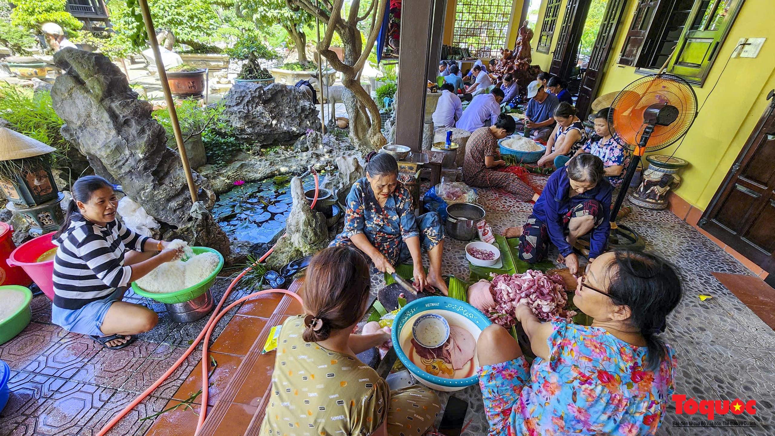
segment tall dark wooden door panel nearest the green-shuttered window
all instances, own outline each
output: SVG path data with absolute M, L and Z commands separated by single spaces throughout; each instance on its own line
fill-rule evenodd
M 598 38 L 594 40 L 592 54 L 587 63 L 587 70 L 581 78 L 579 97 L 576 101 L 576 113 L 581 119 L 587 119 L 589 108 L 592 105 L 595 94 L 598 93 L 603 68 L 611 54 L 611 45 L 614 43 L 616 32 L 621 21 L 622 13 L 627 5 L 627 0 L 608 0 L 603 19 L 600 22 Z

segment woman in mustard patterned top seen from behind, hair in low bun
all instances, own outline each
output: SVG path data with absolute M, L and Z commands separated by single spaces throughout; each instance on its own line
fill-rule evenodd
M 369 266 L 350 247 L 329 247 L 309 263 L 304 314 L 288 318 L 277 338 L 272 395 L 261 424 L 267 434 L 424 434 L 441 406 L 421 386 L 391 391 L 356 355 L 390 345 L 390 329 L 369 323 Z M 374 327 L 376 324 L 376 327 Z

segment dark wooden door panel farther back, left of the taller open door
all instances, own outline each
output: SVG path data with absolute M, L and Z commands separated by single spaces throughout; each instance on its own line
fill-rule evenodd
M 584 22 L 587 21 L 590 2 L 591 0 L 568 0 L 549 73 L 565 80 L 570 79 L 570 73 L 576 67 L 578 60 L 579 42 L 581 33 L 584 32 Z

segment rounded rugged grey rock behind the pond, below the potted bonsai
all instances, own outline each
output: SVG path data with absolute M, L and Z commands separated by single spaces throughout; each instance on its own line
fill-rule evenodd
M 318 109 L 304 91 L 284 84 L 235 84 L 223 98 L 223 116 L 240 138 L 259 144 L 291 143 L 320 130 Z

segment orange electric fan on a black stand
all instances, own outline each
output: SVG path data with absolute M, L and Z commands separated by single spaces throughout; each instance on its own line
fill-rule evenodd
M 690 84 L 673 74 L 654 74 L 627 85 L 614 98 L 608 123 L 611 134 L 632 152 L 621 191 L 611 209 L 611 245 L 632 245 L 638 235 L 614 222 L 627 195 L 632 176 L 646 152 L 670 146 L 686 135 L 697 118 L 697 95 Z M 629 242 L 621 241 L 621 238 Z

